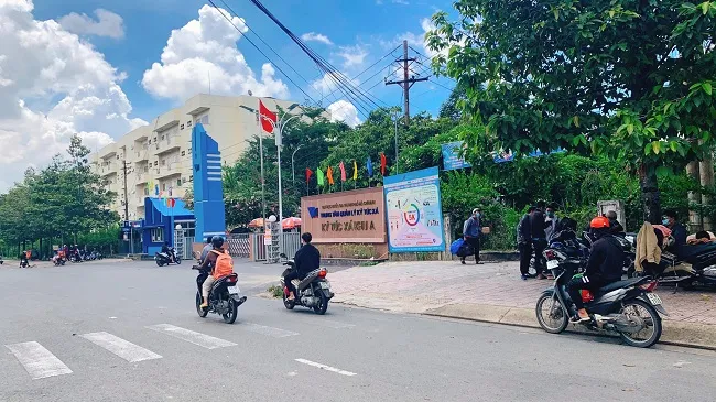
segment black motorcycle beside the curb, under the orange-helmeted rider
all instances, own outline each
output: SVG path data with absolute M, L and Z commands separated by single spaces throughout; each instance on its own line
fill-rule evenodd
M 535 313 L 542 329 L 560 334 L 576 315 L 567 293 L 567 282 L 582 268 L 579 260 L 555 249 L 544 251 L 547 269 L 554 274 L 554 285 L 538 298 Z M 594 294 L 583 293 L 585 308 L 592 318 L 581 323 L 589 330 L 615 332 L 628 345 L 648 348 L 659 341 L 661 316 L 669 315 L 659 295 L 653 293 L 658 281 L 651 276 L 631 278 L 610 283 Z

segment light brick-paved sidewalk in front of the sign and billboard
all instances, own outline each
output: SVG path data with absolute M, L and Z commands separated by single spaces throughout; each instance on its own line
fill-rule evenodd
M 522 281 L 517 262 L 391 262 L 329 273 L 328 279 L 337 303 L 532 326 L 536 325 L 535 302 L 552 285 L 547 280 Z M 680 337 L 716 348 L 716 292 L 680 289 L 674 293 L 674 287 L 661 286 L 657 293 L 670 314 L 665 333 L 669 327 L 671 332 L 697 328 L 698 335 Z

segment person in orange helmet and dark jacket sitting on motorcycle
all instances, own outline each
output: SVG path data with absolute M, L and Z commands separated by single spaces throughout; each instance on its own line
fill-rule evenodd
M 597 291 L 600 287 L 621 280 L 623 264 L 623 249 L 617 239 L 611 235 L 609 218 L 598 216 L 592 219 L 589 230 L 596 241 L 592 245 L 589 260 L 584 275 L 573 278 L 567 284 L 567 291 L 572 302 L 577 307 L 577 316 L 572 318 L 573 323 L 588 322 L 589 315 L 584 308 L 582 290 Z

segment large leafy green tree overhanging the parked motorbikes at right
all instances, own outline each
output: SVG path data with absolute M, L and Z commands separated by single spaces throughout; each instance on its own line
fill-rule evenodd
M 435 68 L 466 88 L 484 127 L 474 155 L 557 146 L 636 169 L 644 218 L 660 218 L 658 173 L 710 151 L 716 2 L 458 0 L 433 17 Z

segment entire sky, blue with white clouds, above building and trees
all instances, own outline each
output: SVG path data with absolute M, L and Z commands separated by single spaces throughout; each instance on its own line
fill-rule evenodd
M 220 10 L 208 0 L 0 0 L 0 193 L 28 167 L 42 169 L 64 152 L 72 134 L 96 150 L 208 93 L 209 82 L 211 94 L 310 98 L 351 126 L 366 118 L 367 108 L 336 90 L 249 0 L 214 2 Z M 411 56 L 423 61 L 414 70 L 424 76 L 423 57 L 434 55 L 423 42 L 430 17 L 451 7 L 449 0 L 263 3 L 380 106 L 402 104 L 401 88 L 383 83 L 402 56 L 395 47 L 408 40 L 417 52 Z M 436 115 L 452 86 L 435 77 L 415 84 L 411 112 Z

